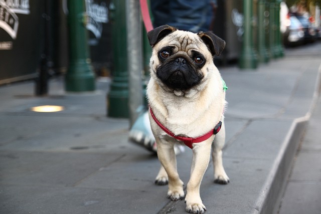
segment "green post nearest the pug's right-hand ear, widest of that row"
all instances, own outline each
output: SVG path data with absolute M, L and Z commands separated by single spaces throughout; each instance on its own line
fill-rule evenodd
M 244 34 L 242 43 L 242 52 L 240 56 L 239 67 L 241 69 L 257 68 L 257 56 L 253 45 L 253 1 L 243 1 L 243 14 L 244 14 Z

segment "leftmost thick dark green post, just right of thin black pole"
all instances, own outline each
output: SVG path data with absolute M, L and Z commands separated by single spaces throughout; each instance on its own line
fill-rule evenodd
M 68 0 L 69 67 L 65 88 L 69 92 L 95 90 L 95 77 L 90 65 L 85 2 Z

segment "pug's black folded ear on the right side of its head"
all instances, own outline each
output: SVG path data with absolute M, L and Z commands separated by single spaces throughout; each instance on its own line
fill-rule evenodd
M 209 48 L 212 55 L 219 56 L 225 48 L 225 41 L 212 32 L 200 32 L 198 35 Z

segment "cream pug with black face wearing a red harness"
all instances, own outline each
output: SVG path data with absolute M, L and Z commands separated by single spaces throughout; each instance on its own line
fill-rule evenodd
M 149 120 L 162 164 L 155 183 L 168 184 L 172 200 L 185 198 L 187 212 L 204 213 L 200 184 L 211 154 L 214 182 L 229 183 L 222 163 L 226 85 L 213 62 L 225 41 L 211 32 L 195 34 L 168 25 L 147 36 L 152 47 Z M 185 143 L 193 150 L 186 196 L 177 172 L 175 143 Z

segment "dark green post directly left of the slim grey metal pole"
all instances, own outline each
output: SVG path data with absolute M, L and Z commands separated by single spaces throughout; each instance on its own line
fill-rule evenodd
M 129 118 L 125 0 L 111 1 L 109 11 L 113 41 L 113 78 L 107 95 L 107 115 Z

